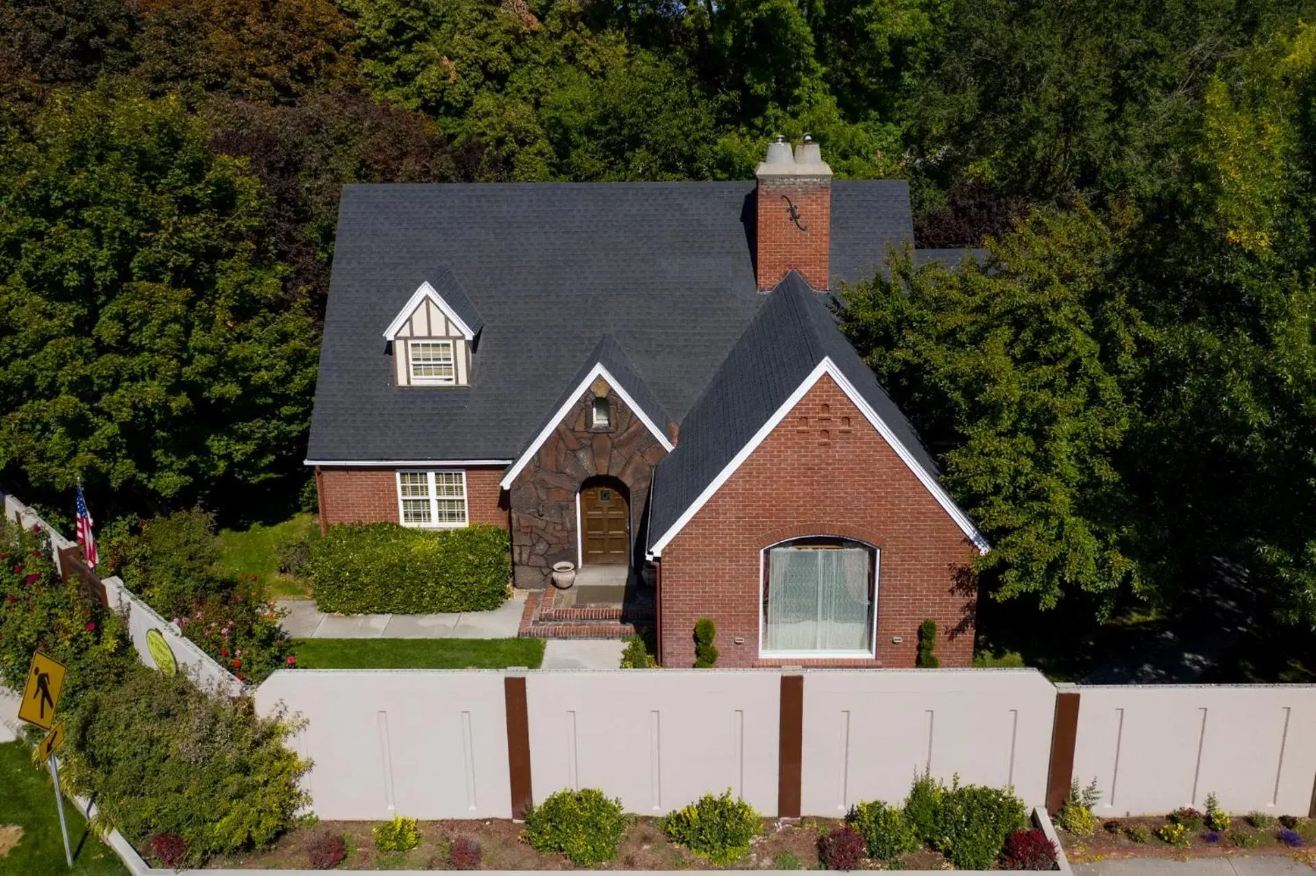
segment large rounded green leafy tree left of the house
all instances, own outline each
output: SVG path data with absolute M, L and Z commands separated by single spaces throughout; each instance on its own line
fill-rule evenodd
M 58 96 L 0 147 L 7 480 L 141 509 L 297 467 L 317 335 L 265 216 L 175 99 Z

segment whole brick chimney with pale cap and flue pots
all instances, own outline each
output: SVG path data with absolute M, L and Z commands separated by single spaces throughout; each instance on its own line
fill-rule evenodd
M 767 147 L 758 178 L 758 237 L 754 271 L 759 292 L 795 268 L 815 289 L 832 288 L 832 168 L 808 134 L 795 154 L 783 138 Z

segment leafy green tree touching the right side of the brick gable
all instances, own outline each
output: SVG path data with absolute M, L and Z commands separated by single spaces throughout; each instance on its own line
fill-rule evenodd
M 1145 334 L 1112 270 L 1124 230 L 1086 208 L 1040 213 L 986 267 L 895 254 L 890 279 L 845 289 L 846 333 L 992 542 L 979 568 L 998 598 L 1087 593 L 1109 610 L 1141 580 L 1116 467 Z

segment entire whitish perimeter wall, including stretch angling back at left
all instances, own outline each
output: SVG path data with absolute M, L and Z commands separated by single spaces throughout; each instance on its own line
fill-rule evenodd
M 38 525 L 55 562 L 70 542 Z M 245 685 L 104 579 L 133 643 L 166 637 L 203 687 Z M 1202 808 L 1316 817 L 1313 685 L 1053 685 L 1034 669 L 280 669 L 259 713 L 308 721 L 293 746 L 328 819 L 507 818 L 563 788 L 665 813 L 730 788 L 771 815 L 903 800 L 916 772 L 1012 785 L 1055 812 L 1096 779 L 1098 815 Z

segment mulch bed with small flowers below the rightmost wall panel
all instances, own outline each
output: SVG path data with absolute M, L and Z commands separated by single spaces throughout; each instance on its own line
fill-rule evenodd
M 1220 833 L 1220 839 L 1208 842 L 1208 830 L 1198 827 L 1187 831 L 1187 846 L 1171 846 L 1155 835 L 1167 823 L 1166 817 L 1115 818 L 1101 825 L 1088 837 L 1075 837 L 1058 830 L 1061 846 L 1070 863 L 1084 863 L 1109 858 L 1195 858 L 1220 855 L 1294 855 L 1302 859 L 1316 859 L 1316 821 L 1298 819 L 1294 830 L 1303 838 L 1302 847 L 1291 847 L 1277 838 L 1282 825 L 1271 822 L 1265 827 L 1249 823 L 1245 815 L 1233 815 L 1229 830 Z M 1146 840 L 1138 842 L 1130 837 L 1141 829 Z M 1238 846 L 1233 837 L 1242 837 L 1253 846 Z

